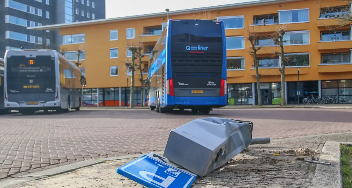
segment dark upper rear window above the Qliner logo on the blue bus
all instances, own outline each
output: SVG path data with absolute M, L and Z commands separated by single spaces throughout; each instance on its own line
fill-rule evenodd
M 209 20 L 172 21 L 171 41 L 181 43 L 222 43 L 221 24 Z

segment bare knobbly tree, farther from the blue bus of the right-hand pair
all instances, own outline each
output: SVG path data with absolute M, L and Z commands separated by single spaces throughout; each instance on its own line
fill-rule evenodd
M 272 38 L 274 42 L 276 42 L 279 47 L 280 51 L 276 51 L 275 55 L 280 56 L 280 65 L 281 67 L 279 68 L 280 74 L 281 74 L 281 106 L 286 106 L 286 95 L 285 95 L 285 65 L 286 65 L 286 60 L 284 58 L 284 43 L 286 43 L 286 40 L 283 40 L 285 32 L 287 30 L 286 25 L 278 25 L 276 28 L 276 31 L 272 34 Z

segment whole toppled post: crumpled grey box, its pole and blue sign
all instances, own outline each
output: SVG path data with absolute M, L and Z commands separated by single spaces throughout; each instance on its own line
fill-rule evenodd
M 149 188 L 189 188 L 196 176 L 219 168 L 251 144 L 253 122 L 201 118 L 170 132 L 163 156 L 148 153 L 117 169 L 117 173 Z

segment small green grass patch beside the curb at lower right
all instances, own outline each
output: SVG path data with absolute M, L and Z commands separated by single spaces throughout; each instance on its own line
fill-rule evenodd
M 341 173 L 344 188 L 352 188 L 352 145 L 340 145 Z

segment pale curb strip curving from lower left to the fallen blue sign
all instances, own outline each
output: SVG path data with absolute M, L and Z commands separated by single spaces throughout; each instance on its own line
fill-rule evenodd
M 159 155 L 163 154 L 163 152 L 155 152 L 155 153 L 157 153 Z M 47 169 L 47 170 L 43 170 L 43 171 L 38 171 L 35 173 L 30 173 L 30 174 L 18 176 L 15 178 L 7 177 L 3 180 L 0 180 L 0 188 L 15 186 L 20 183 L 26 183 L 26 182 L 33 181 L 33 180 L 39 180 L 42 178 L 67 173 L 67 172 L 70 172 L 70 171 L 73 171 L 73 170 L 76 170 L 79 168 L 89 167 L 89 166 L 103 163 L 106 161 L 115 161 L 115 160 L 120 160 L 120 159 L 142 157 L 145 154 L 146 153 L 137 154 L 137 155 L 119 156 L 119 157 L 108 157 L 108 158 L 102 158 L 102 159 L 90 159 L 87 161 L 80 161 L 80 162 L 73 163 L 73 164 L 63 165 L 60 167 L 55 167 L 55 168 L 51 168 L 51 169 Z

